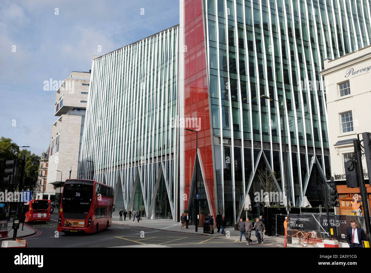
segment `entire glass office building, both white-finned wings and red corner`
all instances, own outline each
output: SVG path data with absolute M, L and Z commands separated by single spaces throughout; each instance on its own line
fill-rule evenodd
M 180 25 L 93 60 L 81 177 L 115 186 L 116 207 L 148 218 L 188 209 L 195 219 L 198 200 L 233 225 L 247 195 L 259 213 L 264 173 L 280 197 L 288 183 L 292 206 L 304 196 L 324 204 L 331 147 L 319 71 L 370 45 L 370 6 L 180 1 Z

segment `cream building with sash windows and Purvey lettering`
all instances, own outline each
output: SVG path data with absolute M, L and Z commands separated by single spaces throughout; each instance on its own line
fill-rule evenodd
M 335 176 L 345 174 L 344 161 L 354 153 L 352 139 L 371 131 L 371 46 L 326 59 L 324 67 L 331 175 Z M 362 165 L 367 172 L 364 158 Z

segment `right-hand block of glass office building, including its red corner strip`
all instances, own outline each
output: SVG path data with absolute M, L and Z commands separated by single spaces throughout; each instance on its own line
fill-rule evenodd
M 370 45 L 369 0 L 184 0 L 184 115 L 201 117 L 198 159 L 193 132 L 184 132 L 184 193 L 234 224 L 246 195 L 254 207 L 283 177 L 284 103 L 288 192 L 292 206 L 307 196 L 324 205 L 331 176 L 323 60 Z M 182 16 L 182 15 L 181 15 Z M 206 62 L 205 62 L 206 60 Z M 181 77 L 181 75 L 180 75 Z M 267 95 L 273 100 L 261 98 Z M 277 101 L 279 102 L 277 102 Z M 264 179 L 263 179 L 264 180 Z M 261 196 L 262 197 L 262 196 Z M 261 200 L 263 201 L 263 200 Z M 185 201 L 188 209 L 194 199 Z M 259 215 L 259 214 L 258 214 Z M 234 222 L 234 223 L 233 223 Z

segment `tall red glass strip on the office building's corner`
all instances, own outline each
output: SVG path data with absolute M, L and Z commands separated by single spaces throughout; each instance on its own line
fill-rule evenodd
M 198 149 L 200 151 L 204 185 L 211 204 L 211 214 L 216 215 L 214 191 L 214 165 L 211 146 L 209 94 L 207 87 L 206 55 L 204 43 L 204 25 L 201 0 L 184 1 L 184 117 L 197 118 Z M 195 130 L 195 127 L 188 126 Z M 192 174 L 196 159 L 196 133 L 184 131 L 184 193 L 190 196 Z M 184 207 L 188 207 L 187 198 Z

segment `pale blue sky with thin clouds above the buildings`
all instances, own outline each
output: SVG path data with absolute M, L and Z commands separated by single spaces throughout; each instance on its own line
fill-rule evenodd
M 44 81 L 178 23 L 177 0 L 1 0 L 0 137 L 40 156 L 58 118 Z

